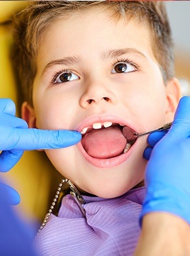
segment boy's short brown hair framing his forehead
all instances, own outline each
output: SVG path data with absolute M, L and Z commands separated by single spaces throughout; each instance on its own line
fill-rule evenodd
M 110 10 L 115 19 L 138 19 L 148 26 L 153 53 L 159 62 L 164 82 L 174 76 L 173 45 L 164 4 L 161 1 L 31 1 L 15 16 L 12 60 L 24 93 L 31 104 L 36 74 L 38 42 L 42 32 L 57 18 L 93 7 Z

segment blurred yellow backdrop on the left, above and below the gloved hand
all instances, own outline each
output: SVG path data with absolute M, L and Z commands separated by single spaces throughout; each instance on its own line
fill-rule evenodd
M 19 91 L 12 72 L 9 49 L 12 42 L 9 18 L 28 5 L 28 1 L 0 1 L 0 98 L 11 98 L 17 108 Z M 18 111 L 19 113 L 19 111 Z M 17 116 L 18 116 L 17 113 Z M 21 202 L 15 206 L 26 219 L 41 222 L 60 182 L 60 175 L 43 152 L 24 152 L 22 159 L 1 179 L 20 194 Z

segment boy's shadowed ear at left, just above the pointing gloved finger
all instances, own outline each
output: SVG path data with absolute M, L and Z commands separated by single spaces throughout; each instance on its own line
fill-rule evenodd
M 29 128 L 36 128 L 35 112 L 26 101 L 22 104 L 21 115 L 22 118 L 28 123 Z

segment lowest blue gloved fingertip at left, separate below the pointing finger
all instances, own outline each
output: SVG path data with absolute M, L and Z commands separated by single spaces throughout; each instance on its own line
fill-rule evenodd
M 0 194 L 1 195 L 7 195 L 7 202 L 10 205 L 17 205 L 20 203 L 20 196 L 14 188 L 11 186 L 8 186 L 7 184 L 1 183 L 0 182 Z

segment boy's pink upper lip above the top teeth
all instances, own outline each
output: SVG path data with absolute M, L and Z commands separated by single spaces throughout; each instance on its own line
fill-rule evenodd
M 93 125 L 93 123 L 104 123 L 107 121 L 110 121 L 111 123 L 118 123 L 119 125 L 128 126 L 132 129 L 134 129 L 134 127 L 131 123 L 131 120 L 129 122 L 127 118 L 124 119 L 122 117 L 113 116 L 111 114 L 104 114 L 104 115 L 96 115 L 96 116 L 91 116 L 91 117 L 86 118 L 81 123 L 79 123 L 76 130 L 81 133 L 81 131 L 83 131 L 83 129 L 85 127 L 91 127 Z M 135 129 L 134 129 L 134 131 L 135 131 Z

